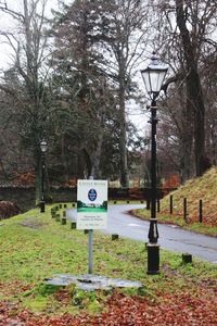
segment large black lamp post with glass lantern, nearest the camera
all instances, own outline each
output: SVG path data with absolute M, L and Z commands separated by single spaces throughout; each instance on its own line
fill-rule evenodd
M 149 243 L 148 243 L 148 274 L 159 273 L 159 244 L 157 243 L 158 230 L 156 218 L 156 98 L 159 95 L 162 85 L 164 83 L 167 65 L 159 63 L 155 53 L 151 58 L 151 63 L 145 70 L 141 71 L 142 78 L 146 92 L 151 99 L 151 218 L 149 228 Z

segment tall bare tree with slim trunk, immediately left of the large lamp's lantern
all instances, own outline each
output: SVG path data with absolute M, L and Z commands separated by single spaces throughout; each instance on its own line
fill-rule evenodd
M 129 186 L 127 162 L 126 101 L 130 97 L 133 70 L 143 59 L 148 39 L 148 10 L 145 1 L 113 0 L 104 3 L 103 46 L 110 57 L 108 70 L 117 85 L 120 137 L 120 184 Z M 106 22 L 106 23 L 105 23 Z

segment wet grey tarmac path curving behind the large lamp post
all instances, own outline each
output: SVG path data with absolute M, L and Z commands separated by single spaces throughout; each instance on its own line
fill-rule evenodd
M 110 205 L 106 234 L 148 242 L 149 222 L 133 217 L 128 212 L 144 205 Z M 75 216 L 75 210 L 67 210 L 67 218 Z M 193 256 L 217 264 L 217 237 L 199 235 L 175 225 L 158 224 L 161 248 Z

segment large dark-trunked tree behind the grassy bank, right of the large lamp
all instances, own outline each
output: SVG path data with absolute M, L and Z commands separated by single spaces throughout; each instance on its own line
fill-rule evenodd
M 208 166 L 205 152 L 206 99 L 203 76 L 205 58 L 210 54 L 207 52 L 207 45 L 212 43 L 209 51 L 216 51 L 214 25 L 217 4 L 212 0 L 171 0 L 154 1 L 154 5 L 155 12 L 156 8 L 159 9 L 159 16 L 155 21 L 158 28 L 157 46 L 168 59 L 174 73 L 165 89 L 169 83 L 175 82 L 174 91 L 182 93 L 180 104 L 184 99 L 180 105 L 183 116 L 177 118 L 181 129 L 179 135 L 183 150 L 184 175 L 189 177 L 188 166 L 192 147 L 195 175 L 200 176 Z

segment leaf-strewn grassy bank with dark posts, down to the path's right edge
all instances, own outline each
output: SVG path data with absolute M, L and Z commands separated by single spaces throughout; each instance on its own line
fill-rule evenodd
M 187 229 L 217 236 L 217 167 L 213 167 L 202 177 L 188 180 L 183 186 L 161 200 L 161 223 L 173 223 Z M 170 214 L 170 197 L 173 213 Z M 188 218 L 183 217 L 183 200 L 187 201 Z M 200 201 L 202 201 L 202 223 L 200 223 Z M 148 220 L 150 211 L 138 210 L 137 216 Z

